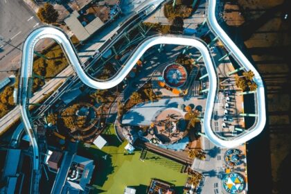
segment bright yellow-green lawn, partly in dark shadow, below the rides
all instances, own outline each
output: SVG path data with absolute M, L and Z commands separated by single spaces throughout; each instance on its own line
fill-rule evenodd
M 137 193 L 145 193 L 152 178 L 162 179 L 175 184 L 177 193 L 183 193 L 186 174 L 179 173 L 182 165 L 177 164 L 152 152 L 148 152 L 145 161 L 140 161 L 141 151 L 134 155 L 125 155 L 127 142 L 120 143 L 116 138 L 114 127 L 105 130 L 103 137 L 109 142 L 102 150 L 91 146 L 81 148 L 80 152 L 94 157 L 96 168 L 92 177 L 93 186 L 98 193 L 123 193 L 126 186 L 133 186 Z M 107 158 L 105 159 L 105 156 Z

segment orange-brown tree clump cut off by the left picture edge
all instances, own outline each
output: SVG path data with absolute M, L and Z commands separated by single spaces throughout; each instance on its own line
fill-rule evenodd
M 0 118 L 6 115 L 13 107 L 15 107 L 13 99 L 13 86 L 6 87 L 0 94 Z

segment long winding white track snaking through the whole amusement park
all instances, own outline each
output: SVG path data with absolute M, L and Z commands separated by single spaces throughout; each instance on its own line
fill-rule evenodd
M 246 141 L 249 141 L 250 139 L 254 138 L 254 136 L 258 135 L 265 126 L 265 92 L 263 87 L 263 82 L 261 80 L 261 77 L 258 74 L 258 71 L 252 66 L 252 64 L 245 58 L 245 55 L 238 49 L 236 44 L 232 42 L 232 40 L 228 37 L 228 35 L 222 30 L 222 28 L 219 26 L 216 18 L 215 18 L 215 4 L 216 1 L 209 1 L 209 7 L 208 7 L 208 23 L 213 30 L 213 33 L 218 35 L 224 45 L 231 51 L 233 54 L 233 57 L 236 58 L 238 63 L 240 63 L 245 69 L 252 70 L 255 74 L 254 81 L 258 85 L 256 97 L 258 100 L 258 120 L 254 127 L 247 131 L 243 132 L 239 136 L 235 137 L 235 139 L 232 140 L 224 140 L 220 139 L 220 137 L 216 136 L 213 133 L 213 130 L 211 129 L 211 116 L 213 113 L 213 106 L 215 102 L 215 95 L 217 90 L 217 80 L 216 77 L 214 65 L 212 62 L 211 55 L 209 54 L 209 49 L 198 39 L 192 39 L 188 37 L 175 37 L 175 36 L 158 36 L 158 37 L 151 37 L 150 39 L 146 39 L 142 44 L 136 48 L 136 51 L 132 53 L 129 59 L 127 59 L 127 62 L 125 63 L 125 66 L 121 71 L 118 72 L 114 78 L 112 78 L 109 81 L 105 82 L 99 82 L 97 80 L 91 79 L 87 74 L 83 71 L 80 61 L 78 59 L 78 55 L 76 54 L 75 49 L 73 48 L 71 42 L 69 41 L 67 35 L 65 35 L 61 30 L 58 30 L 53 27 L 42 27 L 34 30 L 30 35 L 26 38 L 26 41 L 24 42 L 24 49 L 23 49 L 23 56 L 22 56 L 22 67 L 21 67 L 21 80 L 19 83 L 19 107 L 21 112 L 21 117 L 24 122 L 24 127 L 26 129 L 26 132 L 28 132 L 28 135 L 30 136 L 30 141 L 33 144 L 33 151 L 34 151 L 34 170 L 38 170 L 39 166 L 36 164 L 39 164 L 39 152 L 37 148 L 37 142 L 35 139 L 35 136 L 33 134 L 33 130 L 30 125 L 30 120 L 28 118 L 27 114 L 27 98 L 28 98 L 28 80 L 32 77 L 32 71 L 33 71 L 33 50 L 35 47 L 35 44 L 39 41 L 39 39 L 44 38 L 52 38 L 55 39 L 56 42 L 58 42 L 63 50 L 64 53 L 67 54 L 67 58 L 69 62 L 71 63 L 73 69 L 75 69 L 76 73 L 80 77 L 80 80 L 84 82 L 89 87 L 95 88 L 95 89 L 108 89 L 111 87 L 114 87 L 120 83 L 125 76 L 130 72 L 132 67 L 136 64 L 136 62 L 141 58 L 143 53 L 150 48 L 151 46 L 154 46 L 156 44 L 177 44 L 177 45 L 185 45 L 185 46 L 193 46 L 197 48 L 201 53 L 202 57 L 204 58 L 204 62 L 206 65 L 206 70 L 209 73 L 209 94 L 206 100 L 206 108 L 205 108 L 205 114 L 204 114 L 204 131 L 206 136 L 209 138 L 210 141 L 212 141 L 215 145 L 221 146 L 221 147 L 235 147 L 237 145 L 240 145 L 242 143 L 245 143 Z

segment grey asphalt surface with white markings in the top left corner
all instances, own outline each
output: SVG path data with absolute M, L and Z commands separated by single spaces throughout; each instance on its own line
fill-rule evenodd
M 0 48 L 0 71 L 19 68 L 21 51 L 17 48 L 22 48 L 24 37 L 39 24 L 23 0 L 0 0 L 0 36 L 9 43 Z M 8 73 L 0 72 L 0 79 L 6 76 Z

